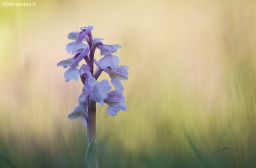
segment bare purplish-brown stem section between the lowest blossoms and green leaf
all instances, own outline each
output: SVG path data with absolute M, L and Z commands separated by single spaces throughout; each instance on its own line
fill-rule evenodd
M 95 135 L 96 137 L 96 102 L 92 99 L 89 99 L 88 116 L 89 122 L 87 123 L 87 144 L 89 145 L 93 136 Z

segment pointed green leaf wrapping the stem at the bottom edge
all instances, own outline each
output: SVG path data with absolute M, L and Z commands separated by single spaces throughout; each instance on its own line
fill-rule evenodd
M 98 145 L 95 136 L 92 137 L 92 141 L 87 148 L 86 168 L 99 168 Z

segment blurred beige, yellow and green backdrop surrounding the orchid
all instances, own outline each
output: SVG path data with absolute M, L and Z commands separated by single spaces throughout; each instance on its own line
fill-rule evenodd
M 0 168 L 85 167 L 83 84 L 57 63 L 89 24 L 130 67 L 128 110 L 97 105 L 100 168 L 255 168 L 255 0 L 34 2 L 0 5 Z

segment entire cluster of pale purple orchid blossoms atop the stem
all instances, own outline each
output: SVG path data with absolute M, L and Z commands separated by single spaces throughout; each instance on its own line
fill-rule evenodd
M 118 66 L 119 57 L 111 54 L 121 46 L 118 44 L 103 44 L 101 42 L 102 38 L 93 38 L 92 28 L 93 26 L 89 25 L 88 27 L 80 28 L 80 32 L 68 34 L 69 40 L 75 41 L 66 45 L 66 51 L 71 55 L 74 54 L 74 56 L 57 64 L 57 66 L 63 66 L 64 68 L 69 67 L 64 73 L 66 82 L 71 79 L 78 81 L 80 77 L 84 84 L 82 94 L 78 97 L 79 105 L 69 114 L 69 119 L 81 118 L 85 126 L 87 126 L 87 121 L 89 120 L 88 108 L 91 100 L 100 103 L 101 106 L 106 103 L 108 105 L 107 113 L 110 116 L 115 116 L 120 110 L 126 111 L 128 108 L 128 105 L 124 105 L 125 98 L 122 92 L 124 88 L 121 80 L 128 79 L 127 69 L 129 67 Z M 83 41 L 88 44 L 83 43 Z M 100 49 L 100 55 L 104 56 L 99 61 L 94 58 L 97 48 Z M 81 65 L 79 68 L 78 63 L 83 59 L 86 64 Z M 93 72 L 94 63 L 97 65 L 95 72 Z M 110 82 L 115 90 L 110 91 L 111 86 L 107 79 L 97 82 L 97 78 L 103 71 L 109 74 Z

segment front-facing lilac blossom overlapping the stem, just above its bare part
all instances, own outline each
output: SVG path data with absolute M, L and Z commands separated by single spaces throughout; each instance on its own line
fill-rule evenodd
M 94 77 L 90 77 L 85 80 L 85 85 L 83 87 L 83 93 L 85 95 L 90 95 L 90 98 L 95 102 L 100 102 L 107 98 L 107 92 L 111 89 L 109 81 L 107 79 L 97 82 Z

